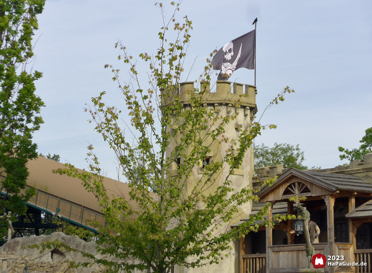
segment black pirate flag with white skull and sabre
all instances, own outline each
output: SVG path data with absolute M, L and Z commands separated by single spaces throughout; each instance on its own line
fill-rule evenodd
M 255 31 L 240 36 L 224 45 L 213 57 L 215 70 L 221 70 L 218 80 L 228 80 L 238 68 L 254 69 Z

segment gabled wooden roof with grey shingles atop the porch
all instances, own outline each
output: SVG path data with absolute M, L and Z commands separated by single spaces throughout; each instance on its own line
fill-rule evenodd
M 293 196 L 325 196 L 338 190 L 372 193 L 372 183 L 353 175 L 318 173 L 291 168 L 257 194 L 261 202 L 288 199 Z

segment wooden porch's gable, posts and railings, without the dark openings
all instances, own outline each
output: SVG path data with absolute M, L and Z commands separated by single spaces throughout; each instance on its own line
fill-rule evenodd
M 315 249 L 315 254 L 323 254 L 326 258 L 330 256 L 331 260 L 332 257 L 335 257 L 333 261 L 326 261 L 324 272 L 372 273 L 372 248 L 357 249 L 356 239 L 358 226 L 361 223 L 365 222 L 367 219 L 357 220 L 345 217 L 345 213 L 350 213 L 356 210 L 356 197 L 371 199 L 372 195 L 370 193 L 366 194 L 358 193 L 356 191 L 348 192 L 338 190 L 337 187 L 334 186 L 335 183 L 333 183 L 333 181 L 332 184 L 324 183 L 328 182 L 326 179 L 329 179 L 329 181 L 331 179 L 334 180 L 336 178 L 335 175 L 329 175 L 329 178 L 326 177 L 328 176 L 328 174 L 323 175 L 323 177 L 321 177 L 322 184 L 320 184 L 320 182 L 318 182 L 316 179 L 310 179 L 310 177 L 307 177 L 306 175 L 299 177 L 299 175 L 302 174 L 298 172 L 298 170 L 293 171 L 292 174 L 293 175 L 289 175 L 286 178 L 281 179 L 281 181 L 278 180 L 277 184 L 274 185 L 270 190 L 265 190 L 262 194 L 258 195 L 262 202 L 265 202 L 266 204 L 272 204 L 271 207 L 269 207 L 267 219 L 272 220 L 273 205 L 276 203 L 281 204 L 283 202 L 286 202 L 288 204 L 287 213 L 295 214 L 293 210 L 293 203 L 289 202 L 288 198 L 293 196 L 306 196 L 307 200 L 305 201 L 305 205 L 309 205 L 310 209 L 311 207 L 315 207 L 314 204 L 316 204 L 317 206 L 319 206 L 320 204 L 322 206 L 322 211 L 325 212 L 326 210 L 326 215 L 323 214 L 324 217 L 322 218 L 324 223 L 322 230 L 322 232 L 324 233 L 323 240 L 320 243 L 312 244 Z M 345 177 L 341 177 L 340 180 L 341 179 L 346 180 Z M 338 221 L 340 219 L 340 215 L 343 215 L 341 215 L 343 217 L 342 225 L 344 225 L 343 232 L 339 230 L 339 222 L 337 223 L 338 228 L 335 228 L 335 209 L 337 209 L 338 215 L 336 217 Z M 275 211 L 274 214 L 276 214 Z M 265 231 L 262 229 L 264 229 Z M 277 229 L 281 229 L 282 231 L 280 232 L 282 232 L 282 234 L 286 234 L 283 243 L 288 243 L 287 245 L 273 244 L 273 230 Z M 259 251 L 259 253 L 256 253 L 258 251 L 255 251 L 252 248 L 252 250 L 249 250 L 249 254 L 246 254 L 246 239 L 241 239 L 240 273 L 297 273 L 300 272 L 300 269 L 308 268 L 308 257 L 306 256 L 305 249 L 306 245 L 296 243 L 296 240 L 294 240 L 294 234 L 290 232 L 292 229 L 293 220 L 288 220 L 285 223 L 282 222 L 279 226 L 275 225 L 274 229 L 269 227 L 262 227 L 261 236 L 258 236 L 259 234 L 256 234 L 254 236 L 256 238 L 260 237 L 262 239 L 260 240 L 259 245 L 266 245 L 265 251 L 261 249 L 263 253 L 261 251 Z M 262 234 L 262 232 L 264 233 Z M 265 238 L 262 238 L 262 235 L 264 234 L 266 236 Z M 283 238 L 281 237 L 280 239 Z M 250 242 L 250 244 L 252 244 L 253 242 L 253 239 L 251 240 L 252 241 Z M 343 241 L 338 242 L 337 240 Z M 256 241 L 252 245 L 255 244 L 257 244 Z M 341 259 L 337 261 L 336 259 L 338 256 L 342 256 L 344 259 L 342 261 Z M 346 265 L 328 266 L 328 262 L 345 262 Z M 366 265 L 352 266 L 353 262 L 356 262 L 358 264 L 364 262 L 366 263 Z

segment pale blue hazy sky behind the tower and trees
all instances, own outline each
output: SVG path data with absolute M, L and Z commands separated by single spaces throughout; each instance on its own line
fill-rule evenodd
M 169 2 L 164 6 L 169 19 L 173 8 Z M 370 0 L 183 0 L 176 20 L 187 15 L 193 26 L 187 80 L 198 78 L 209 53 L 254 29 L 257 17 L 257 117 L 285 86 L 295 94 L 265 112 L 261 123 L 277 129 L 263 131 L 255 143 L 299 144 L 309 167 L 348 163 L 339 159 L 338 146 L 359 147 L 364 131 L 372 127 L 371 13 Z M 92 144 L 107 175 L 115 179 L 114 153 L 88 123 L 84 107 L 106 91 L 106 105 L 125 109 L 104 65 L 128 77 L 118 60 L 121 52 L 114 48 L 120 40 L 138 59 L 145 80 L 148 67 L 138 55 L 155 55 L 160 46 L 160 9 L 152 0 L 46 0 L 38 20 L 33 69 L 43 72 L 36 94 L 46 104 L 41 111 L 45 123 L 34 134 L 38 151 L 86 168 L 86 146 Z M 240 68 L 229 81 L 253 85 L 254 71 Z

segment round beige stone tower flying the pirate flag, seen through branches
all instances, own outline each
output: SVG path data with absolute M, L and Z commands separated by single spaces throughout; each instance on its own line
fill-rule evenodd
M 177 92 L 179 92 L 181 96 L 181 103 L 183 105 L 183 108 L 181 109 L 181 112 L 190 109 L 189 106 L 189 92 L 193 91 L 195 88 L 200 89 L 201 86 L 194 86 L 194 82 L 183 82 L 180 84 L 179 89 Z M 177 89 L 177 88 L 176 88 Z M 210 92 L 209 86 L 207 87 L 207 93 L 206 97 L 203 100 L 204 107 L 207 108 L 207 111 L 210 110 L 214 111 L 216 115 L 219 117 L 224 117 L 228 113 L 237 113 L 237 118 L 233 121 L 231 121 L 227 127 L 225 127 L 225 133 L 224 136 L 228 137 L 229 139 L 236 138 L 239 135 L 239 131 L 241 128 L 247 128 L 249 124 L 253 121 L 253 117 L 257 112 L 257 106 L 255 103 L 255 96 L 257 93 L 256 87 L 248 84 L 242 84 L 242 83 L 232 83 L 229 81 L 217 81 L 216 83 L 216 92 Z M 243 94 L 247 94 L 247 96 L 242 96 Z M 234 106 L 234 102 L 239 100 L 239 104 Z M 165 105 L 164 100 L 162 100 L 162 106 Z M 212 128 L 216 128 L 219 125 L 220 119 L 215 122 L 214 125 L 211 123 L 208 124 L 209 126 L 212 126 Z M 177 123 L 175 123 L 173 126 L 177 126 Z M 205 132 L 200 132 L 199 137 L 204 137 Z M 208 137 L 206 138 L 206 142 L 208 143 Z M 211 141 L 210 141 L 211 142 Z M 180 137 L 175 136 L 172 138 L 169 146 L 166 149 L 166 156 L 170 156 L 171 152 L 174 150 L 174 148 L 180 144 Z M 221 143 L 214 143 L 211 146 L 211 152 L 210 154 L 207 154 L 207 158 L 204 160 L 200 160 L 199 166 L 195 166 L 191 170 L 191 176 L 188 178 L 186 182 L 186 191 L 187 194 L 193 189 L 195 186 L 195 183 L 202 177 L 202 174 L 204 172 L 203 163 L 208 164 L 208 161 L 210 160 L 222 160 L 224 152 L 228 149 L 229 143 L 221 142 Z M 176 170 L 177 164 L 182 164 L 183 159 L 177 158 L 177 160 L 173 163 L 173 170 Z M 215 187 L 219 186 L 219 183 L 221 181 L 224 181 L 226 176 L 228 175 L 229 168 L 224 168 L 224 170 L 221 172 L 221 174 L 218 175 L 215 184 Z M 253 166 L 253 148 L 249 148 L 247 150 L 247 153 L 244 157 L 243 164 L 241 165 L 240 169 L 236 169 L 234 171 L 234 175 L 231 175 L 229 177 L 229 180 L 232 181 L 234 188 L 242 188 L 246 187 L 248 185 L 251 185 L 252 183 L 252 176 L 254 174 L 254 166 Z M 245 204 L 242 207 L 240 207 L 239 216 L 235 219 L 234 222 L 231 224 L 234 224 L 239 221 L 239 219 L 247 217 L 250 213 L 251 204 Z M 230 228 L 229 225 L 226 226 L 226 228 Z M 220 264 L 218 265 L 212 265 L 208 267 L 203 267 L 202 269 L 194 269 L 194 270 L 188 270 L 188 272 L 210 272 L 210 273 L 216 273 L 216 272 L 239 272 L 239 242 L 232 242 L 231 243 L 233 249 L 235 249 L 235 254 L 232 253 L 230 255 L 230 258 L 224 259 Z M 179 272 L 186 272 L 185 269 L 180 268 Z M 176 270 L 177 272 L 177 270 Z

